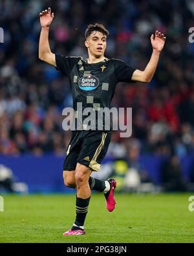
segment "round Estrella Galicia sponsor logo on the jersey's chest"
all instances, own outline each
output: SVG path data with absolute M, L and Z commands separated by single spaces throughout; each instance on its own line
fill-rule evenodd
M 96 76 L 82 76 L 79 80 L 79 87 L 85 91 L 91 91 L 99 86 L 99 80 Z

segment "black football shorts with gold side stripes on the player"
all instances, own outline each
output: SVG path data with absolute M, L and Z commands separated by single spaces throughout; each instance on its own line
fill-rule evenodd
M 73 131 L 63 170 L 76 170 L 81 163 L 91 170 L 100 170 L 100 164 L 107 153 L 111 134 L 104 131 L 81 130 Z

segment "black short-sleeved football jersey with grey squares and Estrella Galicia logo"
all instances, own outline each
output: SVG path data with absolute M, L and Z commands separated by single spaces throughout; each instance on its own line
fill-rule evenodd
M 105 125 L 107 117 L 100 115 L 100 112 L 110 109 L 118 82 L 134 82 L 131 77 L 135 69 L 122 60 L 105 58 L 102 62 L 88 64 L 87 60 L 83 60 L 81 57 L 65 57 L 59 54 L 56 54 L 56 69 L 69 78 L 72 88 L 75 114 L 75 126 L 72 130 L 89 130 L 90 126 L 84 122 L 88 117 L 84 110 L 89 108 L 87 110 L 93 110 L 96 113 L 95 118 L 92 119 L 92 127 L 95 129 L 91 130 L 111 132 L 112 124 L 110 126 Z M 89 112 L 87 111 L 87 113 Z M 102 121 L 102 125 L 99 125 L 99 120 Z

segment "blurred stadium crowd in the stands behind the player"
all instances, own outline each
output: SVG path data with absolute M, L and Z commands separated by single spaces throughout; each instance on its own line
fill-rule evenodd
M 0 153 L 63 155 L 70 139 L 62 110 L 72 106 L 67 78 L 38 59 L 39 12 L 50 6 L 52 52 L 87 58 L 84 31 L 89 23 L 109 29 L 107 58 L 144 69 L 150 36 L 166 34 L 164 51 L 149 84 L 118 84 L 112 106 L 133 108 L 133 135 L 113 132 L 108 156 L 124 157 L 127 146 L 142 153 L 184 157 L 194 153 L 193 1 L 178 0 L 1 0 Z

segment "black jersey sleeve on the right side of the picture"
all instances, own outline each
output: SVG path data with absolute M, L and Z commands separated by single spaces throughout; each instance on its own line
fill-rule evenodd
M 113 60 L 114 61 L 114 71 L 116 74 L 117 82 L 127 82 L 135 83 L 131 80 L 133 72 L 136 70 L 133 67 L 130 67 L 122 60 Z

